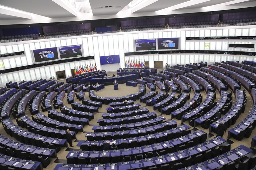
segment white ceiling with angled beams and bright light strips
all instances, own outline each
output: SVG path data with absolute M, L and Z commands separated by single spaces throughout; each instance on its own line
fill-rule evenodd
M 0 23 L 83 21 L 249 7 L 256 7 L 256 0 L 0 0 Z

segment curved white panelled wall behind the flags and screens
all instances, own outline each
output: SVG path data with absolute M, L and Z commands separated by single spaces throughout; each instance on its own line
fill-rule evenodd
M 64 63 L 54 66 L 46 66 L 36 68 L 34 70 L 17 71 L 13 73 L 0 74 L 0 84 L 5 85 L 9 81 L 36 80 L 40 78 L 56 77 L 55 71 L 65 70 L 66 76 L 71 75 L 70 69 L 75 66 L 96 63 L 98 69 L 101 69 L 100 56 L 120 55 L 120 67 L 124 67 L 124 60 L 140 59 L 149 61 L 149 67 L 154 67 L 154 61 L 163 61 L 163 65 L 186 64 L 200 61 L 215 62 L 225 60 L 252 60 L 256 61 L 254 56 L 240 55 L 219 55 L 219 54 L 156 54 L 156 55 L 138 55 L 124 57 L 125 52 L 134 52 L 133 42 L 135 39 L 147 38 L 181 38 L 181 50 L 207 50 L 204 49 L 204 43 L 210 43 L 209 50 L 232 50 L 232 51 L 256 51 L 254 49 L 230 49 L 229 43 L 232 40 L 195 40 L 186 41 L 186 37 L 212 37 L 212 36 L 256 36 L 256 25 L 251 26 L 235 26 L 235 27 L 211 27 L 211 28 L 191 28 L 191 29 L 171 29 L 171 30 L 150 30 L 137 32 L 109 33 L 98 35 L 85 35 L 64 37 L 55 39 L 33 40 L 26 42 L 0 43 L 0 53 L 25 51 L 25 56 L 0 58 L 0 62 L 4 62 L 5 68 L 10 69 L 20 66 L 33 64 L 30 50 L 57 47 L 65 45 L 83 44 L 85 56 L 94 55 L 94 60 L 84 60 L 75 63 Z M 256 40 L 242 40 L 242 43 L 255 43 Z M 164 66 L 163 66 L 164 67 Z

